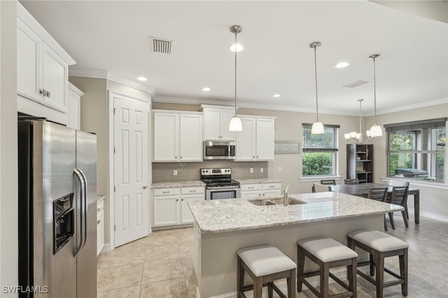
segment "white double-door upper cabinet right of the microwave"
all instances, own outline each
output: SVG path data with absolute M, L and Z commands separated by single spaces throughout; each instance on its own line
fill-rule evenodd
M 274 160 L 274 119 L 241 116 L 243 131 L 236 133 L 237 161 Z

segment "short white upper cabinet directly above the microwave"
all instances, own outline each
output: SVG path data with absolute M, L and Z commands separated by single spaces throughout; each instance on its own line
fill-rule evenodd
M 235 109 L 230 107 L 202 106 L 204 111 L 205 141 L 235 141 L 235 132 L 229 131 Z

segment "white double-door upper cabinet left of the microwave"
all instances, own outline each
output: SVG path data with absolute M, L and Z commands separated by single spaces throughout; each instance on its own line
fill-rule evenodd
M 202 114 L 153 113 L 154 162 L 202 162 Z

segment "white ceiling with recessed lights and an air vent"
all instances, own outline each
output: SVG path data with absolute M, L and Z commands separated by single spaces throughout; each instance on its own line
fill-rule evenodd
M 448 102 L 447 23 L 370 1 L 20 2 L 76 60 L 71 73 L 146 76 L 156 101 L 232 105 L 235 54 L 228 48 L 230 26 L 239 24 L 238 106 L 314 112 L 313 41 L 322 43 L 320 113 L 358 115 L 363 98 L 363 114 L 372 115 L 367 57 L 375 53 L 378 113 Z M 172 54 L 151 52 L 150 36 L 172 40 Z M 342 61 L 350 65 L 333 67 Z M 370 83 L 342 87 L 356 80 Z

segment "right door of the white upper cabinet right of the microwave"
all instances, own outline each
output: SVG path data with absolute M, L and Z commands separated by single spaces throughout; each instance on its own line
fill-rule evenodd
M 257 160 L 274 160 L 274 120 L 257 118 Z

